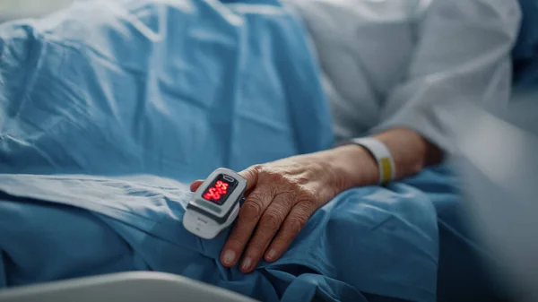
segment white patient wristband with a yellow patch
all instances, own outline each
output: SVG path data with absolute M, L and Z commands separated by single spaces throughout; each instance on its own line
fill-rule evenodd
M 355 138 L 350 141 L 366 148 L 377 160 L 379 184 L 394 180 L 396 177 L 395 160 L 385 143 L 371 137 Z

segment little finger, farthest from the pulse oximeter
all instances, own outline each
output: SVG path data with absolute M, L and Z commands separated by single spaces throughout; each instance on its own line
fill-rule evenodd
M 284 254 L 314 211 L 316 208 L 311 203 L 306 202 L 298 203 L 291 209 L 290 214 L 282 223 L 282 228 L 267 249 L 265 261 L 276 261 Z

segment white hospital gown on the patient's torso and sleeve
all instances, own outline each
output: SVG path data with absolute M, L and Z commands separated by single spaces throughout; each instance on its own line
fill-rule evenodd
M 458 101 L 508 102 L 516 0 L 289 0 L 324 74 L 337 139 L 406 126 L 449 151 Z

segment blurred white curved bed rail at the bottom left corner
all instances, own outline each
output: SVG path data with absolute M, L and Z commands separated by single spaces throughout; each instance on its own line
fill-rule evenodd
M 1 302 L 255 302 L 163 272 L 122 272 L 0 291 Z

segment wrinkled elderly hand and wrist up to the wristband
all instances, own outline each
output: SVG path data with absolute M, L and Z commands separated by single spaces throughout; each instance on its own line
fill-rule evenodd
M 247 179 L 247 200 L 221 263 L 233 266 L 243 255 L 241 272 L 252 272 L 262 256 L 277 260 L 314 211 L 343 190 L 375 184 L 378 177 L 376 161 L 356 145 L 256 165 L 239 174 Z M 191 190 L 201 184 L 195 181 Z

